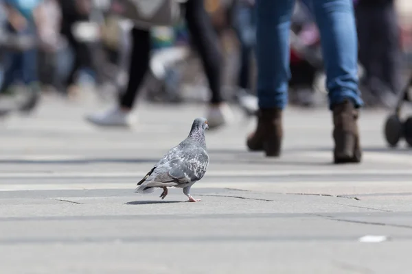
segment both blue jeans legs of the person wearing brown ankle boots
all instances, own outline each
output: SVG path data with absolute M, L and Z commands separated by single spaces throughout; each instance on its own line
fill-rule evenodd
M 357 37 L 352 0 L 312 0 L 321 33 L 330 109 L 349 99 L 363 105 L 358 90 Z M 289 30 L 294 0 L 257 0 L 256 55 L 260 108 L 288 103 Z

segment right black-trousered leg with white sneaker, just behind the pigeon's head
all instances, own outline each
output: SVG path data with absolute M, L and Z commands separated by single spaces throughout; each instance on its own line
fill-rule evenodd
M 201 56 L 211 99 L 207 113 L 209 128 L 218 127 L 232 119 L 231 111 L 222 97 L 223 56 L 218 36 L 205 11 L 203 0 L 188 0 L 185 3 L 185 18 L 190 38 Z

